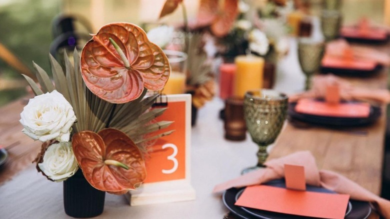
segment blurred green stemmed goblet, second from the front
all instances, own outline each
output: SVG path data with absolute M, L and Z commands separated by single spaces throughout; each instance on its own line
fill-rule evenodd
M 306 75 L 305 90 L 311 86 L 311 78 L 318 71 L 323 57 L 325 43 L 307 37 L 298 40 L 298 60 Z

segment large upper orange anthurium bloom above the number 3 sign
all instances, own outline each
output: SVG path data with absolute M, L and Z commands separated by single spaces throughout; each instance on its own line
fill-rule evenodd
M 144 87 L 162 89 L 169 77 L 168 58 L 137 25 L 125 22 L 102 26 L 81 51 L 86 86 L 112 103 L 138 98 Z

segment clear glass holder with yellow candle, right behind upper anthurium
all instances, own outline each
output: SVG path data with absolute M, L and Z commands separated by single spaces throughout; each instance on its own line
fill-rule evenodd
M 174 50 L 163 51 L 168 57 L 171 71 L 162 92 L 164 94 L 185 93 L 187 54 Z

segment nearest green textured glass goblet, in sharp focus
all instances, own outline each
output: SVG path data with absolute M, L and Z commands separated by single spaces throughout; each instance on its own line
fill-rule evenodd
M 248 90 L 244 97 L 244 118 L 246 128 L 259 149 L 257 165 L 242 170 L 241 174 L 264 167 L 268 157 L 267 146 L 280 133 L 286 114 L 288 97 L 272 89 Z

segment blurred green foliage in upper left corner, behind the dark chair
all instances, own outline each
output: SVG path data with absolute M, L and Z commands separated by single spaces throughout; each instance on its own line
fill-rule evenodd
M 32 71 L 32 61 L 50 72 L 48 52 L 51 22 L 60 11 L 60 0 L 0 1 L 0 43 Z M 19 72 L 0 59 L 1 78 L 21 78 Z M 25 89 L 0 91 L 0 105 L 18 98 Z

